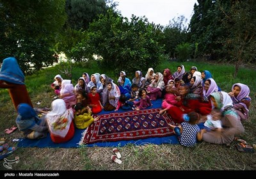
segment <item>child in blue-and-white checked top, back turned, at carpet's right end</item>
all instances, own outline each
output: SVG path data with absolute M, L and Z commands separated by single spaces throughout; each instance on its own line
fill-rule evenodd
M 205 129 L 200 130 L 196 123 L 200 120 L 200 116 L 196 112 L 191 112 L 187 117 L 188 121 L 182 122 L 179 126 L 168 124 L 175 131 L 179 143 L 183 146 L 194 146 L 196 141 L 201 141 L 205 133 Z

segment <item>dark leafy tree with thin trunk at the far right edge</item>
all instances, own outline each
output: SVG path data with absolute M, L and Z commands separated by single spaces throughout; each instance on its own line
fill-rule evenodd
M 222 10 L 225 13 L 224 10 Z M 256 3 L 253 0 L 235 0 L 229 13 L 225 13 L 223 26 L 227 26 L 229 35 L 223 39 L 225 49 L 229 49 L 231 60 L 236 67 L 234 77 L 237 76 L 239 66 L 253 61 L 255 63 L 256 52 Z

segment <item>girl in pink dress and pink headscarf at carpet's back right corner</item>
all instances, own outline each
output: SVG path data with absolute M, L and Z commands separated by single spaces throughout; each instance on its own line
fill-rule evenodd
M 170 107 L 176 104 L 177 100 L 175 98 L 179 96 L 179 92 L 177 91 L 177 88 L 175 88 L 174 81 L 172 79 L 168 82 L 165 89 L 166 95 L 164 95 L 164 100 L 162 102 L 163 109 L 159 111 L 159 114 L 163 114 L 165 111 L 168 111 Z

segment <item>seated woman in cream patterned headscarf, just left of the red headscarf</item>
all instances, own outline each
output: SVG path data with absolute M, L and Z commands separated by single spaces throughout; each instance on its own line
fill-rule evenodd
M 157 98 L 161 98 L 162 90 L 164 89 L 163 78 L 163 75 L 160 72 L 157 72 L 154 81 L 152 81 L 148 86 L 147 95 L 150 100 L 156 100 Z

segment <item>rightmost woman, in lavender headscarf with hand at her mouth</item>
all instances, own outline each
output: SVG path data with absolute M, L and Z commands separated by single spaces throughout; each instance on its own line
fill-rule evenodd
M 234 109 L 241 117 L 241 120 L 248 120 L 249 118 L 249 107 L 251 103 L 250 88 L 243 83 L 235 83 L 232 86 L 232 92 L 229 92 Z

